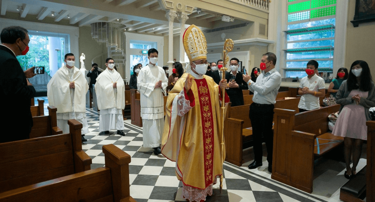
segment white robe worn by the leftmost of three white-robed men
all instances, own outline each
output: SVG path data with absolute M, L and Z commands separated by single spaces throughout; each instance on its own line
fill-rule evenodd
M 69 85 L 74 82 L 75 88 Z M 82 123 L 81 134 L 89 132 L 86 120 L 86 93 L 89 85 L 78 68 L 61 67 L 47 84 L 48 103 L 57 108 L 57 127 L 69 133 L 68 120 Z

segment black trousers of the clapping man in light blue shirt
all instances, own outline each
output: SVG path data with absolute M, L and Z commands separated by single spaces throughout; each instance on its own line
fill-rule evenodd
M 267 147 L 267 162 L 272 164 L 272 151 L 273 151 L 273 132 L 272 132 L 272 121 L 273 121 L 273 104 L 259 105 L 253 102 L 250 105 L 250 121 L 253 127 L 253 149 L 254 149 L 254 160 L 256 162 L 262 162 L 263 149 L 262 149 L 262 135 L 265 140 Z

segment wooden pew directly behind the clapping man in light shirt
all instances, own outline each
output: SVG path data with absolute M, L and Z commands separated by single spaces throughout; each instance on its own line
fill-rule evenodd
M 252 96 L 252 95 L 251 95 Z M 298 110 L 300 98 L 276 101 L 275 108 Z M 252 140 L 253 131 L 249 118 L 250 104 L 228 107 L 228 119 L 225 122 L 224 137 L 226 156 L 225 161 L 241 166 L 242 152 L 246 142 Z

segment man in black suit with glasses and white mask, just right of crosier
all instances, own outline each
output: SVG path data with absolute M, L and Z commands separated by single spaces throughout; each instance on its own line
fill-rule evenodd
M 240 61 L 237 58 L 232 58 L 229 61 L 230 77 L 227 78 L 227 80 L 230 81 L 228 82 L 229 89 L 226 91 L 226 93 L 229 96 L 230 102 L 232 102 L 231 106 L 244 105 L 244 95 L 242 93 L 242 90 L 249 89 L 247 83 L 242 77 L 243 73 L 241 72 L 241 67 L 238 66 L 239 62 Z

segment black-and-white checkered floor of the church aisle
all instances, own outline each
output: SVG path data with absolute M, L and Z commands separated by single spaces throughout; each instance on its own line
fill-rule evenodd
M 43 99 L 48 114 L 48 101 Z M 142 146 L 142 128 L 126 120 L 125 137 L 115 134 L 115 130 L 109 136 L 98 136 L 99 114 L 87 108 L 86 115 L 90 132 L 85 135 L 88 141 L 82 148 L 93 159 L 92 169 L 104 166 L 102 146 L 114 144 L 131 156 L 130 193 L 137 202 L 185 202 L 182 183 L 175 177 L 175 162 L 162 155 L 155 156 L 153 149 Z M 366 165 L 366 146 L 363 147 L 358 171 Z M 348 181 L 343 176 L 344 162 L 323 157 L 315 161 L 314 191 L 308 194 L 272 180 L 265 157 L 262 167 L 249 170 L 247 165 L 253 160 L 251 148 L 244 150 L 244 160 L 241 167 L 224 162 L 223 190 L 220 193 L 219 183 L 214 185 L 213 195 L 206 198 L 207 202 L 339 202 L 339 189 Z

